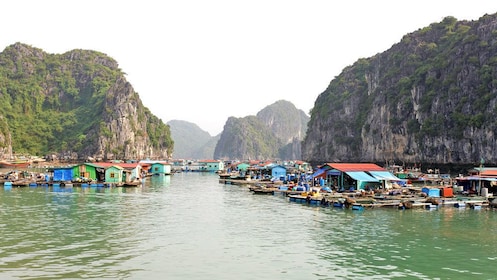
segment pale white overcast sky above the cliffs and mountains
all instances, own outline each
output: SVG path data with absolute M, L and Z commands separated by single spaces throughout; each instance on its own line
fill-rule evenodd
M 215 136 L 278 100 L 309 114 L 360 58 L 446 16 L 478 20 L 495 0 L 6 0 L 0 51 L 16 42 L 114 58 L 164 122 Z

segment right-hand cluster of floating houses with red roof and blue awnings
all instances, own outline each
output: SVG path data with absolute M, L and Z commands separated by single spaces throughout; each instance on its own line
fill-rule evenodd
M 248 186 L 253 194 L 282 195 L 289 202 L 352 210 L 373 208 L 494 208 L 497 168 L 475 167 L 467 175 L 374 163 L 293 165 L 237 163 L 220 183 Z M 290 171 L 290 172 L 289 172 Z M 497 202 L 497 201 L 496 201 Z

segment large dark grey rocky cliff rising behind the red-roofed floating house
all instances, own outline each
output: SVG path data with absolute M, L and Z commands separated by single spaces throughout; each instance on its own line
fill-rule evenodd
M 311 111 L 310 162 L 497 162 L 497 16 L 447 17 L 359 59 Z

